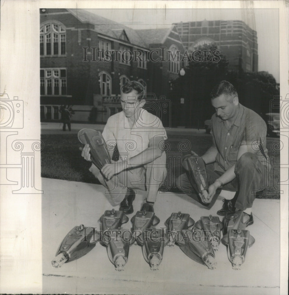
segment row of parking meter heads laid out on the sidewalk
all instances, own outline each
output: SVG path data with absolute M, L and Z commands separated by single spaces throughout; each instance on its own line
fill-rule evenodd
M 127 263 L 133 244 L 142 247 L 144 259 L 154 271 L 159 268 L 166 245 L 178 245 L 189 258 L 213 270 L 216 268 L 215 251 L 222 241 L 227 246 L 233 269 L 237 270 L 245 261 L 247 248 L 255 242 L 246 230 L 242 211 L 226 214 L 223 222 L 212 215 L 195 222 L 189 214 L 172 213 L 165 222 L 166 227 L 159 229 L 155 226 L 160 220 L 154 212 L 136 212 L 131 218 L 131 230 L 123 227 L 128 221 L 123 211 L 112 209 L 100 217 L 99 230 L 82 224 L 75 226 L 61 242 L 52 265 L 59 268 L 81 258 L 99 242 L 107 248 L 109 260 L 118 271 Z

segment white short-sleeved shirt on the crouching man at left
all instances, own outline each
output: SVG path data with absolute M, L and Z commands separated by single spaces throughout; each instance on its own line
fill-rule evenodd
M 161 120 L 155 115 L 142 109 L 132 128 L 124 112 L 112 115 L 108 118 L 102 132 L 107 147 L 110 149 L 117 145 L 120 156 L 131 158 L 148 148 L 151 138 L 161 136 L 167 139 L 166 130 Z M 112 148 L 113 150 L 113 148 Z M 166 157 L 165 152 L 162 157 Z

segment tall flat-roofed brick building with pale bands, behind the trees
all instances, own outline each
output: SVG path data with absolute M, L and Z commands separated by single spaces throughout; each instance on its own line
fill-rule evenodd
M 194 51 L 199 45 L 216 43 L 229 61 L 229 67 L 245 72 L 258 71 L 257 32 L 243 21 L 203 20 L 175 25 L 187 50 Z

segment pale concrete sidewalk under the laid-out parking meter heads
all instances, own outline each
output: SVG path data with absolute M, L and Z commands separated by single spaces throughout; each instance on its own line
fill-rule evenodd
M 254 224 L 247 229 L 255 244 L 247 250 L 241 270 L 232 269 L 226 246 L 215 253 L 217 268 L 209 270 L 188 258 L 176 245 L 166 246 L 158 271 L 151 271 L 141 247 L 131 245 L 124 271 L 115 271 L 105 247 L 96 247 L 78 260 L 53 268 L 51 260 L 76 225 L 99 228 L 98 219 L 112 209 L 101 185 L 42 178 L 43 294 L 279 294 L 280 200 L 256 199 Z M 133 202 L 141 208 L 144 193 Z M 172 212 L 189 213 L 195 220 L 215 215 L 222 207 L 220 196 L 212 209 L 203 209 L 183 194 L 159 194 L 154 206 L 163 227 Z M 117 210 L 118 207 L 115 207 Z M 131 218 L 134 214 L 128 215 Z M 130 223 L 130 222 L 129 222 Z M 130 224 L 125 227 L 129 228 Z

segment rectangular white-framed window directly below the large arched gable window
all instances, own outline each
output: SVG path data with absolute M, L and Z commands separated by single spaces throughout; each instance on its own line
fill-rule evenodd
M 40 69 L 40 95 L 67 95 L 66 69 Z

